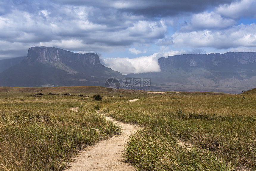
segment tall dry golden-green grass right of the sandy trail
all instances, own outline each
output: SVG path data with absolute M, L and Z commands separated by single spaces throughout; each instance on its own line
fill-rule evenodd
M 139 170 L 256 170 L 255 103 L 255 95 L 163 95 L 102 111 L 142 126 L 125 154 Z

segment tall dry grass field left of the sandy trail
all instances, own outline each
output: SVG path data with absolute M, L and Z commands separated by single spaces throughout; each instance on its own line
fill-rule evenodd
M 0 99 L 0 170 L 62 170 L 78 150 L 119 134 L 96 105 L 63 96 Z

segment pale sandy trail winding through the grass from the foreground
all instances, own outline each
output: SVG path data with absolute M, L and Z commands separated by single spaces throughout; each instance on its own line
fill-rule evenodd
M 78 108 L 71 110 L 77 111 Z M 97 112 L 99 113 L 99 112 Z M 99 113 L 99 115 L 104 115 Z M 111 137 L 107 140 L 100 141 L 93 147 L 88 147 L 85 151 L 81 151 L 75 162 L 68 165 L 67 171 L 87 171 L 87 170 L 104 170 L 104 171 L 128 171 L 135 170 L 135 167 L 124 162 L 123 153 L 124 145 L 134 131 L 139 129 L 138 125 L 125 124 L 115 121 L 112 117 L 106 117 L 122 126 L 123 134 Z

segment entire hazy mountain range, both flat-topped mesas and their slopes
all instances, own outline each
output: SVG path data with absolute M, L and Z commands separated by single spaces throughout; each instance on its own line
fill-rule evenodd
M 161 72 L 123 76 L 102 65 L 95 53 L 31 47 L 24 58 L 0 60 L 0 86 L 104 86 L 108 78 L 117 78 L 121 88 L 152 91 L 242 93 L 256 87 L 256 52 L 176 55 L 158 64 Z M 132 87 L 131 78 L 142 87 Z M 143 78 L 151 79 L 151 87 L 143 87 Z

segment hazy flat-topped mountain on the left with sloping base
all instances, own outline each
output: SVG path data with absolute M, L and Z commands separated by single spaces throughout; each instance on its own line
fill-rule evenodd
M 0 73 L 0 86 L 104 86 L 110 77 L 122 79 L 123 75 L 102 65 L 97 54 L 31 47 L 20 64 Z

